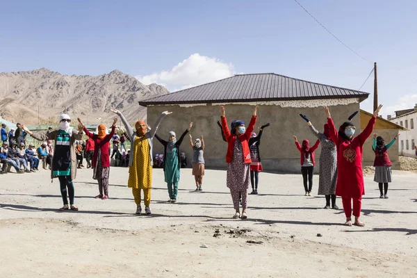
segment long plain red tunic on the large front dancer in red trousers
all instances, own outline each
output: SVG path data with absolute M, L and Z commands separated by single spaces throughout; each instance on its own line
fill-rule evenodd
M 377 119 L 370 118 L 366 128 L 352 140 L 338 135 L 332 118 L 327 119 L 330 138 L 337 148 L 336 195 L 341 197 L 361 197 L 365 195 L 362 171 L 362 147 L 373 131 Z

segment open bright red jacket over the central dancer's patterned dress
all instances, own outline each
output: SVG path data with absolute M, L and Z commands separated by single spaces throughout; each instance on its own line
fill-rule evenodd
M 231 163 L 231 161 L 233 159 L 234 143 L 236 142 L 237 137 L 236 137 L 236 135 L 232 134 L 229 131 L 229 126 L 227 126 L 226 117 L 221 117 L 221 119 L 222 119 L 222 127 L 223 127 L 224 137 L 227 140 L 226 162 Z M 252 163 L 252 160 L 250 159 L 249 144 L 247 142 L 250 139 L 252 131 L 254 131 L 255 124 L 256 124 L 256 116 L 252 116 L 252 119 L 250 120 L 250 123 L 247 126 L 247 129 L 246 129 L 245 133 L 243 133 L 242 135 L 239 136 L 240 142 L 242 142 L 243 162 L 244 163 Z

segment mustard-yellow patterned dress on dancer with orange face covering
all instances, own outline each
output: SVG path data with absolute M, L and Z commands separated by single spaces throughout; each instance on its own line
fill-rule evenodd
M 135 136 L 132 165 L 129 167 L 129 188 L 152 188 L 152 165 L 149 155 L 149 142 L 146 136 Z

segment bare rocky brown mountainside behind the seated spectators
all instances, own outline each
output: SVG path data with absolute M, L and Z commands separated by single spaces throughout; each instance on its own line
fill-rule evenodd
M 117 108 L 135 122 L 146 118 L 146 108 L 138 101 L 167 93 L 161 85 L 143 85 L 118 70 L 100 76 L 62 75 L 45 68 L 0 73 L 0 114 L 11 122 L 33 125 L 38 124 L 38 106 L 41 122 L 55 120 L 67 108 L 85 123 L 110 124 L 114 114 L 109 110 Z

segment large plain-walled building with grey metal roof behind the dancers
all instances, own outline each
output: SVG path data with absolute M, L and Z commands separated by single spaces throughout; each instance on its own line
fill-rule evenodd
M 250 122 L 254 106 L 259 105 L 254 131 L 258 133 L 259 126 L 270 123 L 270 127 L 263 131 L 260 145 L 264 170 L 300 172 L 300 152 L 295 147 L 293 135 L 299 140 L 309 139 L 311 144 L 317 138 L 299 114 L 307 115 L 322 131 L 327 121 L 322 106 L 329 106 L 338 126 L 354 111 L 359 111 L 359 104 L 368 95 L 368 92 L 279 74 L 238 74 L 146 99 L 139 104 L 147 107 L 147 120 L 151 127 L 162 111 L 173 112 L 158 127 L 158 136 L 162 138 L 167 138 L 169 131 L 175 131 L 179 137 L 188 124 L 194 122 L 190 134 L 193 138 L 204 135 L 206 167 L 222 169 L 227 167 L 227 144 L 222 140 L 220 127 L 216 123 L 220 120 L 220 105 L 224 105 L 229 123 L 232 120 L 244 120 L 246 124 Z M 352 122 L 360 126 L 360 115 Z M 163 147 L 157 142 L 154 152 L 163 152 Z M 193 150 L 188 142 L 184 142 L 181 152 L 186 152 L 190 162 Z M 317 165 L 320 165 L 320 148 L 316 152 Z

